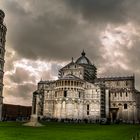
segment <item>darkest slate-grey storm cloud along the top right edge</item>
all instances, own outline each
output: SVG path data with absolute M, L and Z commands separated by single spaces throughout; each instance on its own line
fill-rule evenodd
M 84 19 L 98 24 L 139 22 L 139 0 L 66 0 Z

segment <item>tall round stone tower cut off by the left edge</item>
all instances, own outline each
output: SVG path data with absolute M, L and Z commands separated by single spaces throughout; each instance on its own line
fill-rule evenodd
M 0 120 L 2 119 L 2 104 L 3 104 L 3 75 L 4 75 L 4 54 L 5 54 L 5 36 L 7 28 L 4 25 L 5 14 L 0 10 Z

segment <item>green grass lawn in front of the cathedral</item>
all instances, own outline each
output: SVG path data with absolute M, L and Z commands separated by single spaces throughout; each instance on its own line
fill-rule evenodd
M 15 122 L 0 123 L 0 140 L 131 140 L 138 132 L 140 125 L 46 123 L 34 128 Z

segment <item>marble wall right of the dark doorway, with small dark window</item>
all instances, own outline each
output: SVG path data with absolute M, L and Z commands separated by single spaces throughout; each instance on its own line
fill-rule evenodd
M 132 91 L 126 92 L 111 93 L 111 107 L 118 108 L 117 119 L 128 122 L 138 121 L 136 93 Z M 124 108 L 125 104 L 127 104 L 126 109 Z

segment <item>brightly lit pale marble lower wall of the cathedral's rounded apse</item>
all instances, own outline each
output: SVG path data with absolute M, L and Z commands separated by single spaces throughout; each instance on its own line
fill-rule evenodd
M 55 92 L 45 92 L 44 115 L 58 119 L 100 118 L 99 87 L 93 86 L 92 84 L 88 86 L 90 89 L 81 90 L 80 97 L 77 89 L 68 90 L 67 97 L 64 97 L 63 91 L 58 92 L 57 97 L 53 95 Z M 89 115 L 87 115 L 87 105 L 89 105 Z

